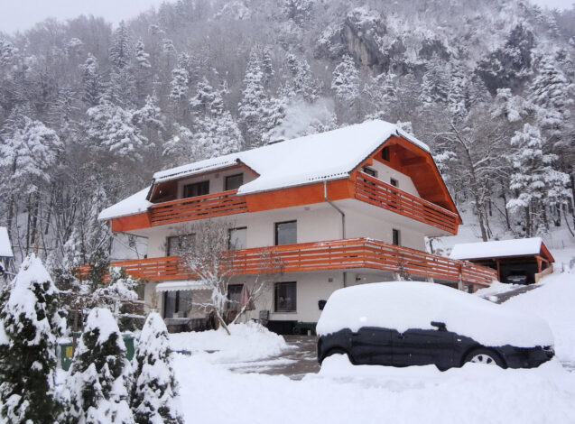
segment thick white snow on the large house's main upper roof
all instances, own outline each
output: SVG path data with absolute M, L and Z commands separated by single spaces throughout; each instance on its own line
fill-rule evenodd
M 153 179 L 154 182 L 180 179 L 226 168 L 241 161 L 257 172 L 259 177 L 241 186 L 238 194 L 338 180 L 348 177 L 350 171 L 392 135 L 400 135 L 430 152 L 426 144 L 405 134 L 397 125 L 376 120 L 197 161 L 156 172 Z

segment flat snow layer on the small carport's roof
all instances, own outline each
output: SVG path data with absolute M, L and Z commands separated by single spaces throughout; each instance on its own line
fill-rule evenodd
M 504 256 L 524 256 L 541 253 L 541 237 L 499 240 L 493 242 L 455 244 L 451 259 L 482 259 Z

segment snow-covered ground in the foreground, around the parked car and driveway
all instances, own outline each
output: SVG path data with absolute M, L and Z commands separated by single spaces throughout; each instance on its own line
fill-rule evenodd
M 575 273 L 568 272 L 546 277 L 538 289 L 504 304 L 537 313 L 552 327 L 558 358 L 531 370 L 467 364 L 441 373 L 434 366 L 354 366 L 335 355 L 320 373 L 293 381 L 231 371 L 255 359 L 264 364 L 258 349 L 272 355 L 284 348 L 261 328 L 236 326 L 233 340 L 217 332 L 175 335 L 172 347 L 196 352 L 174 354 L 184 417 L 214 424 L 573 423 L 575 372 L 562 364 L 575 363 L 574 304 Z

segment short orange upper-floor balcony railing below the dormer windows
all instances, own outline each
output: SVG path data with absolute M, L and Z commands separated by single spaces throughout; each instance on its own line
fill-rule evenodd
M 247 212 L 246 197 L 236 196 L 237 190 L 221 193 L 181 198 L 170 202 L 158 203 L 150 207 L 150 221 L 153 226 L 173 224 L 209 217 Z

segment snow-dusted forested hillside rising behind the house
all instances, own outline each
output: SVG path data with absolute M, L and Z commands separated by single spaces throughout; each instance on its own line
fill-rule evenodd
M 515 0 L 179 0 L 0 33 L 0 226 L 19 258 L 95 263 L 97 213 L 153 171 L 382 118 L 484 239 L 573 231 L 574 61 L 575 9 Z

